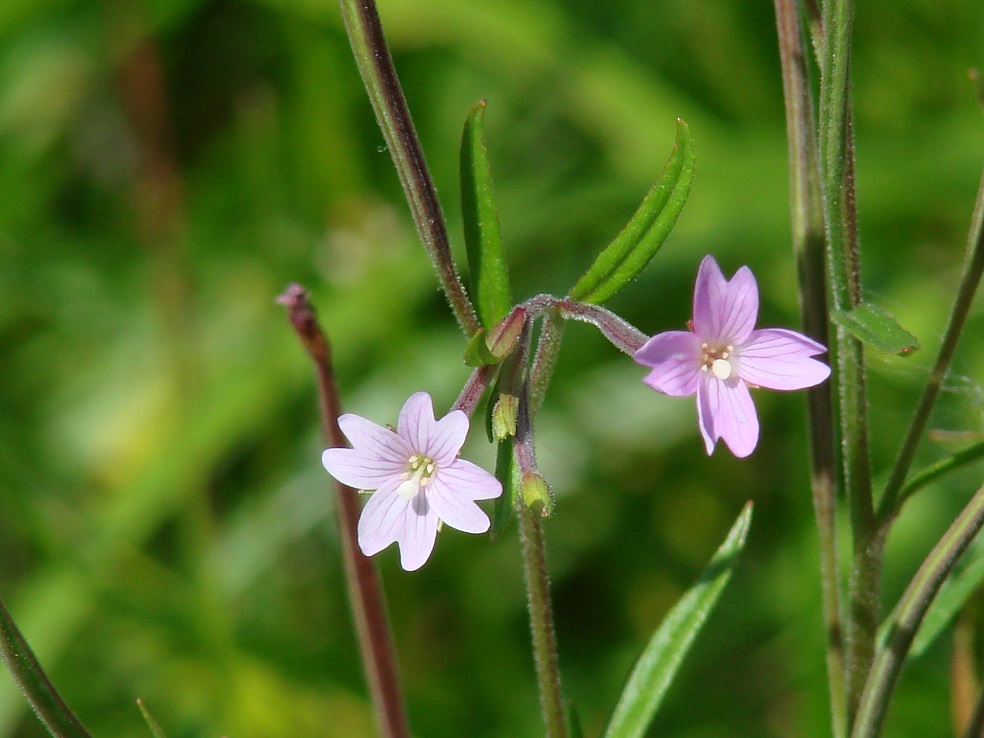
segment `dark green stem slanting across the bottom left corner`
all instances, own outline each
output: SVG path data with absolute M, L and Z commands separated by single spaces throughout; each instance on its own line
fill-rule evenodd
M 48 681 L 3 602 L 0 602 L 0 656 L 51 735 L 55 738 L 91 738 Z

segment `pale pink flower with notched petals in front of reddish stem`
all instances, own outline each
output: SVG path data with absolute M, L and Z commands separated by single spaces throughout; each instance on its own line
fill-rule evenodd
M 395 431 L 350 414 L 338 424 L 353 448 L 330 448 L 321 460 L 342 484 L 375 490 L 359 518 L 359 547 L 366 556 L 395 542 L 400 564 L 414 571 L 430 557 L 442 522 L 466 533 L 489 529 L 489 517 L 475 500 L 498 497 L 502 485 L 458 458 L 468 434 L 461 410 L 434 420 L 430 395 L 417 392 L 403 405 Z

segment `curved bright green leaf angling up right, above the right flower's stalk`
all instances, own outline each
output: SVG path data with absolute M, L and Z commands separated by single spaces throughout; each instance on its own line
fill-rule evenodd
M 694 178 L 694 140 L 687 124 L 677 119 L 676 144 L 639 209 L 622 232 L 598 255 L 570 296 L 600 305 L 635 279 L 673 229 Z

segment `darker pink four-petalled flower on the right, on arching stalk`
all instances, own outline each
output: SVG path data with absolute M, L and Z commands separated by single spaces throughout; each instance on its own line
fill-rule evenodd
M 694 287 L 690 331 L 650 338 L 635 360 L 652 367 L 643 380 L 672 397 L 697 395 L 697 417 L 707 453 L 718 439 L 744 458 L 755 450 L 759 425 L 749 387 L 796 390 L 830 376 L 830 367 L 811 357 L 827 349 L 783 328 L 754 330 L 758 286 L 748 267 L 731 280 L 705 256 Z

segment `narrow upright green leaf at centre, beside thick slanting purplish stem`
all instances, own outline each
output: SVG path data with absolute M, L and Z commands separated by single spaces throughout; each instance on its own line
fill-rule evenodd
M 512 307 L 499 206 L 485 146 L 485 101 L 471 109 L 461 137 L 461 215 L 471 292 L 482 325 L 491 328 Z

